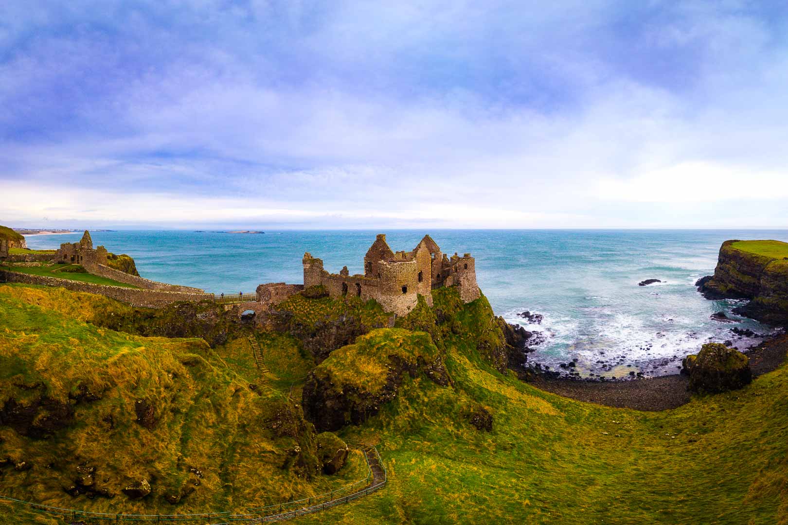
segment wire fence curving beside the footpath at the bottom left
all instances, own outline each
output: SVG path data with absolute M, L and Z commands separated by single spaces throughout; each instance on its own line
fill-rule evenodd
M 43 512 L 50 516 L 59 516 L 62 519 L 71 519 L 72 522 L 78 520 L 88 520 L 87 523 L 121 523 L 128 521 L 136 522 L 202 522 L 213 521 L 212 525 L 229 525 L 231 523 L 264 523 L 268 521 L 281 521 L 302 516 L 310 512 L 318 512 L 325 508 L 349 503 L 359 497 L 372 494 L 381 489 L 388 482 L 388 471 L 381 460 L 377 448 L 371 445 L 359 446 L 364 453 L 366 460 L 366 478 L 342 486 L 338 489 L 318 494 L 317 496 L 304 497 L 299 500 L 287 501 L 278 505 L 267 505 L 264 507 L 247 508 L 247 512 L 237 513 L 232 511 L 225 512 L 198 512 L 192 514 L 112 514 L 109 512 L 91 512 L 76 510 L 74 508 L 61 508 L 49 505 L 39 505 L 31 501 L 18 500 L 13 497 L 0 495 L 0 501 L 8 501 L 14 505 L 24 505 L 29 510 Z M 366 447 L 366 449 L 365 449 Z M 370 456 L 372 456 L 370 458 Z M 375 470 L 381 473 L 376 475 Z

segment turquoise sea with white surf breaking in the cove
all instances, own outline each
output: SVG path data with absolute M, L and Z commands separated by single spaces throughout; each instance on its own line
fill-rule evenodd
M 330 272 L 345 264 L 362 273 L 362 257 L 378 231 L 269 231 L 226 234 L 194 231 L 96 231 L 95 246 L 134 257 L 140 275 L 211 292 L 254 292 L 260 283 L 302 283 L 308 251 Z M 788 231 L 539 231 L 438 230 L 385 232 L 393 250 L 411 250 L 429 233 L 446 253 L 476 257 L 478 283 L 498 315 L 546 340 L 531 361 L 556 368 L 577 359 L 578 371 L 606 377 L 675 373 L 681 358 L 704 342 L 730 340 L 739 349 L 760 338 L 738 338 L 731 327 L 760 334 L 753 320 L 709 319 L 736 301 L 707 301 L 693 283 L 713 273 L 729 238 L 788 241 Z M 55 248 L 75 235 L 28 236 L 31 248 Z M 664 283 L 638 287 L 643 279 Z M 517 312 L 545 316 L 529 325 Z M 603 361 L 603 363 L 597 363 Z M 627 367 L 626 365 L 630 366 Z

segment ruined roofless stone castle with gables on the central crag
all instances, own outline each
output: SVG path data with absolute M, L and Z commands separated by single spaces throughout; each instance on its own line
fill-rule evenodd
M 332 297 L 355 296 L 374 299 L 386 312 L 403 316 L 417 304 L 422 295 L 433 304 L 430 290 L 439 287 L 459 287 L 465 302 L 479 298 L 476 266 L 470 253 L 447 257 L 429 235 L 410 251 L 394 252 L 385 235 L 377 235 L 364 256 L 364 274 L 349 275 L 348 267 L 334 274 L 323 269 L 322 259 L 303 254 L 303 285 L 322 284 Z

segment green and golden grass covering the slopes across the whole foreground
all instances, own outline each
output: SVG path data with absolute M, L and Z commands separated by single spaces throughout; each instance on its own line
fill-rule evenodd
M 99 323 L 108 307 L 121 312 L 114 301 L 0 286 L 0 401 L 36 392 L 64 401 L 80 395 L 80 384 L 102 397 L 75 405 L 75 423 L 46 440 L 0 427 L 0 457 L 36 464 L 4 469 L 0 492 L 127 512 L 218 510 L 258 504 L 261 493 L 309 494 L 339 481 L 282 468 L 288 450 L 314 440 L 300 407 L 287 401 L 288 386 L 297 395 L 312 369 L 337 392 L 374 394 L 404 360 L 412 373 L 400 376 L 392 401 L 337 432 L 346 442 L 377 444 L 388 486 L 295 523 L 788 523 L 786 366 L 743 390 L 665 412 L 573 401 L 499 372 L 489 349 L 500 330 L 486 299 L 462 305 L 452 294 L 437 290 L 435 309 L 378 328 L 316 368 L 298 339 L 258 334 L 272 370 L 263 378 L 239 339 L 210 349 L 199 339 L 141 338 L 84 322 Z M 299 315 L 342 308 L 328 302 L 293 304 Z M 438 357 L 446 381 L 422 366 Z M 136 422 L 139 399 L 154 402 L 154 430 Z M 293 435 L 266 423 L 279 410 L 298 429 Z M 113 429 L 102 420 L 110 413 Z M 108 486 L 155 475 L 161 494 L 193 482 L 190 466 L 205 478 L 177 507 L 122 495 L 72 499 L 61 483 L 85 460 Z M 55 468 L 46 468 L 50 461 Z M 340 475 L 351 478 L 352 465 L 349 472 Z

